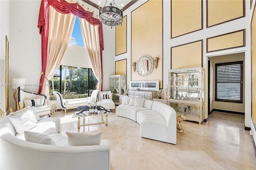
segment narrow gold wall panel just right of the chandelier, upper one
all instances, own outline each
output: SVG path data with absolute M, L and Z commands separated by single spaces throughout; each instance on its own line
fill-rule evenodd
M 116 55 L 127 52 L 127 16 L 124 16 L 122 25 L 116 26 Z

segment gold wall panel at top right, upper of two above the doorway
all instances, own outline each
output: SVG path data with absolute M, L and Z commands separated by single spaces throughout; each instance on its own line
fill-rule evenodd
M 206 27 L 245 16 L 245 0 L 206 0 Z

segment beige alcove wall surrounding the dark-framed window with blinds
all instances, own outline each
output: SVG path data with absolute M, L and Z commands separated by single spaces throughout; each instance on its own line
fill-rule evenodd
M 244 53 L 235 53 L 228 55 L 220 55 L 216 57 L 211 57 L 211 62 L 213 64 L 213 109 L 220 109 L 225 111 L 235 111 L 244 113 L 244 83 L 243 83 L 243 103 L 230 103 L 230 102 L 220 102 L 215 101 L 215 64 L 216 63 L 226 63 L 233 61 L 244 61 Z M 244 73 L 244 65 L 243 65 L 243 73 Z M 245 77 L 243 75 L 243 77 Z M 245 78 L 243 80 L 245 82 Z

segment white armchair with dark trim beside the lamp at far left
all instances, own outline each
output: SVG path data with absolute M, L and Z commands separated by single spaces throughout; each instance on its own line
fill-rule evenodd
M 46 95 L 40 95 L 40 94 L 36 94 L 36 93 L 31 93 L 28 91 L 23 91 L 23 90 L 20 90 L 20 87 L 18 87 L 17 91 L 16 91 L 16 99 L 17 99 L 16 108 L 17 108 L 17 110 L 19 110 L 19 102 L 20 102 L 21 107 L 24 108 L 25 100 L 28 101 L 28 100 L 38 99 L 38 98 L 40 100 L 40 105 L 35 106 L 37 114 L 39 116 L 49 114 L 51 107 L 46 105 Z

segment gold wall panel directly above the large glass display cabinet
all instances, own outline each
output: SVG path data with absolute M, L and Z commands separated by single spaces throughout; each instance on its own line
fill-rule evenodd
M 171 47 L 171 69 L 201 67 L 203 40 Z

